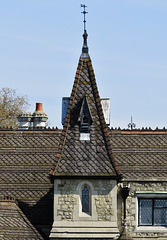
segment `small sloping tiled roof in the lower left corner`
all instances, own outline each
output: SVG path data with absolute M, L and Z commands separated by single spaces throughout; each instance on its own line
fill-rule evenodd
M 43 240 L 12 199 L 0 200 L 0 239 Z

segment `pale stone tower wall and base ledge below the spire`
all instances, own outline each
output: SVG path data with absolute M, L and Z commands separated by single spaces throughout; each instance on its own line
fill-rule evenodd
M 82 212 L 81 188 L 90 187 L 91 213 Z M 102 237 L 118 235 L 117 185 L 115 180 L 56 179 L 54 223 L 50 238 Z

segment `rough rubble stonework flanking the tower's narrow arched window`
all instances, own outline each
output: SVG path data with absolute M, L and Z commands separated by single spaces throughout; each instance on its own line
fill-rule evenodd
M 91 189 L 91 216 L 97 221 L 111 221 L 114 215 L 116 196 L 111 196 L 115 183 L 110 180 L 58 180 L 56 184 L 55 215 L 59 220 L 73 221 L 79 218 L 81 186 L 86 183 Z M 115 193 L 116 194 L 116 193 Z M 78 212 L 78 217 L 76 216 Z M 116 214 L 116 212 L 115 212 Z

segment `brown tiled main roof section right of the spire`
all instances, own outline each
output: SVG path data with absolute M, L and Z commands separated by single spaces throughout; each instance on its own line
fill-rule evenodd
M 111 130 L 110 138 L 124 179 L 166 178 L 167 130 Z

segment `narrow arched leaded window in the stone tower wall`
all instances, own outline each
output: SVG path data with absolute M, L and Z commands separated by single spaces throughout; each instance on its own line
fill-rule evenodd
M 82 212 L 90 214 L 90 189 L 87 185 L 82 187 Z

